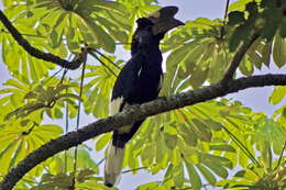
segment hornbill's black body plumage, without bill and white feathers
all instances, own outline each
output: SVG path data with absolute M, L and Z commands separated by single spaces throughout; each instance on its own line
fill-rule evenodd
M 132 42 L 132 58 L 121 70 L 113 87 L 111 102 L 123 97 L 119 111 L 122 111 L 127 104 L 141 104 L 158 96 L 163 78 L 158 44 L 163 34 L 153 35 L 152 26 L 153 23 L 145 18 L 138 20 L 138 29 Z M 141 123 L 142 121 L 135 122 L 128 133 L 114 131 L 112 145 L 123 148 Z

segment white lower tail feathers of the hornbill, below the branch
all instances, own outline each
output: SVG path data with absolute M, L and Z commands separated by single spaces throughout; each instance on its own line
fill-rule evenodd
M 105 167 L 105 183 L 107 186 L 112 187 L 117 182 L 119 182 L 123 158 L 124 158 L 124 147 L 119 148 L 110 144 L 108 148 L 106 167 Z

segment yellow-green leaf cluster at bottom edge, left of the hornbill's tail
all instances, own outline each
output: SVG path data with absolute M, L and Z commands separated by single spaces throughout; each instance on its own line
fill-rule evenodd
M 67 157 L 65 156 L 67 154 Z M 98 166 L 94 163 L 88 150 L 84 147 L 78 149 L 77 160 L 77 174 L 75 177 L 73 163 L 74 163 L 74 149 L 68 150 L 65 154 L 53 157 L 53 160 L 48 165 L 48 172 L 44 174 L 37 183 L 34 183 L 31 189 L 45 190 L 45 189 L 70 189 L 75 186 L 76 189 L 84 187 L 95 187 L 98 189 L 107 189 L 98 181 L 102 181 L 102 178 L 97 177 Z M 67 168 L 65 168 L 67 167 Z M 74 178 L 76 185 L 74 185 Z M 74 188 L 73 188 L 74 189 Z

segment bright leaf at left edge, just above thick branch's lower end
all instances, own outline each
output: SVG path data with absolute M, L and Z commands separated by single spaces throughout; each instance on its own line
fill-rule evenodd
M 63 133 L 63 130 L 57 125 L 34 125 L 31 123 L 24 127 L 19 125 L 18 122 L 14 122 L 0 130 L 2 139 L 0 163 L 6 163 L 0 166 L 1 174 L 6 174 L 28 154 Z

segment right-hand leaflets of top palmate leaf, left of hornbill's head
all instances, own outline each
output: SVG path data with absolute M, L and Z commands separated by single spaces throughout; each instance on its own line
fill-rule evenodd
M 127 42 L 127 24 L 122 22 L 114 22 L 109 19 L 109 15 L 120 15 L 124 18 L 127 11 L 123 4 L 113 1 L 86 1 L 81 0 L 75 5 L 75 13 L 78 14 L 88 26 L 88 30 L 81 30 L 82 35 L 87 40 L 88 31 L 91 32 L 92 41 L 87 41 L 88 44 L 96 44 L 98 47 L 102 47 L 106 52 L 113 53 L 116 49 L 114 40 L 124 43 Z M 82 23 L 78 24 L 81 25 Z M 121 29 L 121 30 L 120 30 Z M 112 37 L 111 37 L 112 36 Z

